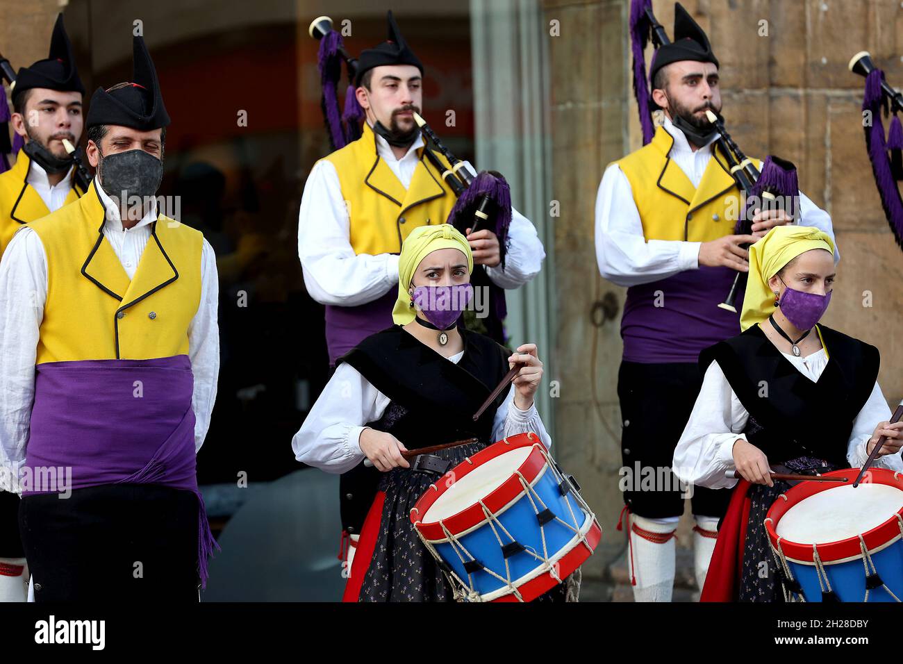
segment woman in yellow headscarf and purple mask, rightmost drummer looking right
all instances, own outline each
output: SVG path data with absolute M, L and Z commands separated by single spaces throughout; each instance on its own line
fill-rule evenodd
M 833 293 L 833 252 L 818 229 L 768 231 L 749 248 L 743 332 L 700 355 L 703 388 L 674 471 L 684 482 L 734 487 L 703 602 L 784 601 L 763 521 L 788 484 L 771 472 L 861 466 L 881 435 L 888 442 L 876 465 L 903 471 L 903 423 L 888 423 L 878 349 L 818 324 Z

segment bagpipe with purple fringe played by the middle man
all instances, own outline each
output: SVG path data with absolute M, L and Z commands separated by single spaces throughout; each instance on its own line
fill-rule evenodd
M 329 16 L 314 19 L 308 29 L 313 39 L 320 41 L 318 65 L 320 70 L 322 98 L 321 108 L 326 123 L 330 144 L 340 149 L 361 136 L 364 110 L 358 105 L 354 79 L 357 75 L 358 60 L 346 51 L 340 33 L 332 29 Z M 338 88 L 341 77 L 341 62 L 344 61 L 349 79 L 345 93 L 344 110 L 339 114 Z M 500 267 L 505 267 L 508 229 L 511 225 L 511 191 L 501 173 L 482 171 L 475 173 L 470 164 L 462 161 L 448 149 L 424 117 L 414 113 L 414 122 L 424 136 L 426 147 L 424 159 L 433 166 L 452 194 L 457 199 L 447 222 L 464 233 L 467 229 L 489 229 L 498 238 Z M 438 154 L 437 154 L 438 153 Z M 448 163 L 442 163 L 439 154 Z M 478 269 L 479 268 L 479 269 Z M 492 310 L 486 320 L 486 331 L 493 339 L 504 343 L 502 327 L 507 315 L 505 291 L 495 285 L 482 266 L 475 266 L 472 283 L 474 287 L 489 287 Z

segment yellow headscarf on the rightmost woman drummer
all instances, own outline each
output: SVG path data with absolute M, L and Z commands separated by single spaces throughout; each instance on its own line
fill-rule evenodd
M 740 330 L 767 321 L 775 313 L 775 294 L 768 287 L 768 279 L 811 249 L 826 249 L 833 255 L 831 236 L 810 226 L 776 226 L 749 248 L 749 278 L 740 313 Z

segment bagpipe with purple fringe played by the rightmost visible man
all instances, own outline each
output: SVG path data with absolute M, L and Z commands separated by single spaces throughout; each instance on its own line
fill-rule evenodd
M 633 51 L 633 89 L 639 107 L 643 145 L 646 145 L 655 134 L 652 113 L 657 105 L 649 90 L 644 51 L 650 41 L 656 48 L 669 44 L 671 41 L 668 39 L 665 28 L 656 20 L 656 16 L 652 12 L 652 0 L 631 1 L 629 28 Z M 740 150 L 740 146 L 728 134 L 724 128 L 723 118 L 713 113 L 712 110 L 706 111 L 706 116 L 718 132 L 715 144 L 727 160 L 728 170 L 744 197 L 734 232 L 738 235 L 752 233 L 752 218 L 755 208 L 760 210 L 784 209 L 791 218 L 796 219 L 799 211 L 796 205 L 799 192 L 796 166 L 785 159 L 768 155 L 759 171 L 756 164 Z M 744 248 L 748 247 L 749 245 L 744 246 Z M 718 304 L 719 308 L 733 313 L 737 312 L 734 301 L 740 287 L 745 286 L 745 280 L 742 279 L 744 274 L 738 272 L 734 277 L 731 290 L 724 301 Z

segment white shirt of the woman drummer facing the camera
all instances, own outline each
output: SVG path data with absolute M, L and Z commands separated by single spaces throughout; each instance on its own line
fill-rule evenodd
M 448 360 L 457 364 L 463 356 L 461 351 Z M 492 440 L 532 431 L 549 447 L 552 439 L 535 404 L 521 410 L 514 403 L 514 394 L 512 385 L 496 411 Z M 389 397 L 374 388 L 358 369 L 342 362 L 294 435 L 294 458 L 326 472 L 348 472 L 364 460 L 359 444 L 364 425 L 382 417 L 389 403 Z

